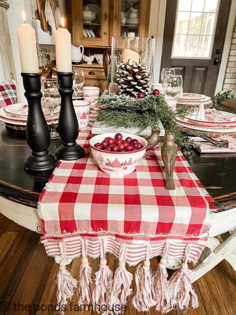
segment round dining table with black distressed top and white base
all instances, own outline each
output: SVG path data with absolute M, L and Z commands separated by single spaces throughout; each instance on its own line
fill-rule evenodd
M 54 154 L 61 143 L 60 139 L 51 140 L 49 151 Z M 25 131 L 16 131 L 0 124 L 0 213 L 21 226 L 41 233 L 37 201 L 52 171 L 44 174 L 26 173 L 23 162 L 30 153 Z M 200 155 L 194 150 L 183 154 L 202 185 L 214 198 L 217 208 L 209 232 L 213 249 L 202 254 L 208 263 L 202 262 L 194 267 L 194 282 L 224 258 L 232 266 L 235 265 L 232 251 L 235 250 L 236 230 L 221 244 L 215 236 L 236 228 L 236 154 Z

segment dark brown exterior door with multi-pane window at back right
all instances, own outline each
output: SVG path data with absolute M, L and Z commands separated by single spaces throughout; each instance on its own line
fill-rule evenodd
M 161 69 L 175 68 L 184 92 L 213 97 L 230 3 L 167 0 Z

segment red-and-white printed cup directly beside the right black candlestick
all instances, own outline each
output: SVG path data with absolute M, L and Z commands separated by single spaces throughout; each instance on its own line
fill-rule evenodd
M 79 129 L 85 129 L 89 123 L 90 103 L 86 100 L 73 100 Z

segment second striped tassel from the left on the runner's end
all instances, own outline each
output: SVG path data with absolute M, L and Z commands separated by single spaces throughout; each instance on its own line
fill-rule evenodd
M 77 290 L 79 298 L 78 304 L 85 305 L 92 302 L 93 290 L 94 290 L 94 274 L 92 268 L 88 264 L 87 259 L 87 240 L 81 240 L 82 248 L 82 260 L 80 267 L 80 281 Z

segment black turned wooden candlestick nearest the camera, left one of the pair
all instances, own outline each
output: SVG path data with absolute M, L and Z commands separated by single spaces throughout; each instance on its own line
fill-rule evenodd
M 50 132 L 41 107 L 40 73 L 21 73 L 28 101 L 26 140 L 32 153 L 25 159 L 24 168 L 30 172 L 45 172 L 53 169 L 58 160 L 48 152 Z

